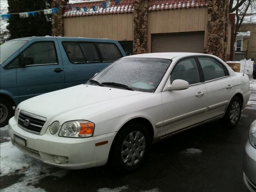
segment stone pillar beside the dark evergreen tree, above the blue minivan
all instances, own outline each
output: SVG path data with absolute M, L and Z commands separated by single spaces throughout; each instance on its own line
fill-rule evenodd
M 63 29 L 63 12 L 67 2 L 64 0 L 53 0 L 52 8 L 59 7 L 56 13 L 52 13 L 52 36 L 64 36 Z

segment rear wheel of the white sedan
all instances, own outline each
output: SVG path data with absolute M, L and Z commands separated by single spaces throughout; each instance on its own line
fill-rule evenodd
M 237 96 L 234 96 L 228 104 L 228 108 L 223 118 L 224 123 L 228 128 L 234 128 L 238 124 L 241 116 L 241 110 L 241 101 Z

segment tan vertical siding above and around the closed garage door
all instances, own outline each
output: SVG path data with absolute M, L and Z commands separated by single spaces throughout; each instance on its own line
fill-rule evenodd
M 207 8 L 186 8 L 148 12 L 148 52 L 151 34 L 207 31 Z M 207 32 L 204 36 L 206 46 Z

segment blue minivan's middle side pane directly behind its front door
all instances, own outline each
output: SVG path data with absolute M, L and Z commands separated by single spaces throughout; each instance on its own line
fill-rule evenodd
M 73 63 L 87 62 L 78 42 L 63 42 L 68 58 Z

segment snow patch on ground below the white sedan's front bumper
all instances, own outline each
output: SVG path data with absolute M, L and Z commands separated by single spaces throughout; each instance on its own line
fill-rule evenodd
M 21 192 L 45 192 L 41 188 L 34 188 L 32 185 L 46 176 L 63 177 L 68 170 L 56 168 L 36 160 L 20 152 L 12 143 L 4 142 L 0 144 L 1 151 L 1 176 L 11 174 L 24 174 L 19 181 L 12 186 L 1 189 L 1 192 L 21 191 Z

